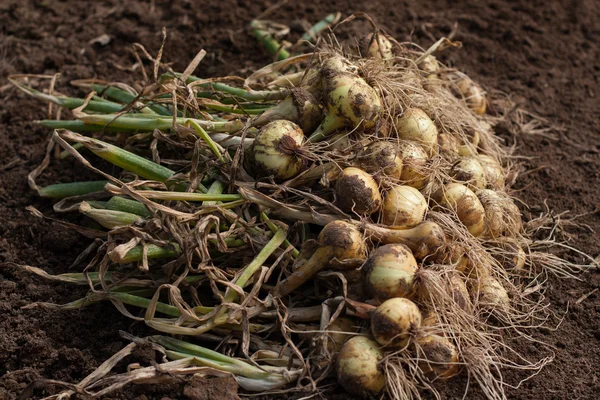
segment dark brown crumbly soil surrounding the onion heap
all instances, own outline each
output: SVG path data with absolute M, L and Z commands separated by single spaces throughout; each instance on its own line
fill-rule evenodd
M 34 196 L 26 180 L 42 160 L 49 137 L 48 130 L 31 121 L 44 118 L 47 108 L 10 87 L 6 76 L 60 72 L 61 91 L 78 95 L 82 93 L 69 89 L 68 81 L 100 77 L 130 82 L 141 76 L 139 69 L 130 70 L 136 62 L 131 45 L 142 43 L 155 54 L 162 27 L 168 31 L 163 59 L 173 61 L 176 70 L 183 70 L 203 48 L 208 55 L 197 74 L 247 75 L 272 58 L 245 27 L 274 4 L 243 0 L 0 2 L 0 398 L 15 399 L 39 377 L 78 382 L 126 344 L 119 330 L 147 332 L 110 304 L 85 312 L 22 308 L 33 301 L 65 303 L 81 297 L 85 290 L 33 278 L 17 272 L 10 263 L 66 272 L 89 241 L 25 210 L 33 205 L 52 215 L 51 203 Z M 488 90 L 510 94 L 518 104 L 561 128 L 557 137 L 511 135 L 509 129 L 498 129 L 517 146 L 523 170 L 530 171 L 516 182 L 520 198 L 531 206 L 524 211 L 525 218 L 546 206 L 556 214 L 569 211 L 563 219 L 578 216 L 577 226 L 567 228 L 572 245 L 593 257 L 600 254 L 595 234 L 600 231 L 600 5 L 596 1 L 280 4 L 269 18 L 293 29 L 331 12 L 363 11 L 398 40 L 412 40 L 423 47 L 455 32 L 454 39 L 464 46 L 447 51 L 444 62 L 458 66 Z M 103 34 L 109 35 L 108 44 L 93 41 Z M 41 183 L 81 179 L 82 174 L 87 178 L 73 161 L 53 162 Z M 599 286 L 597 270 L 587 272 L 581 281 L 549 280 L 548 296 L 562 323 L 556 330 L 541 330 L 538 337 L 555 346 L 555 361 L 519 389 L 510 390 L 510 398 L 600 397 L 600 293 L 577 301 Z M 547 355 L 530 343 L 515 347 L 525 355 Z M 512 385 L 523 377 L 510 371 L 506 376 Z M 132 386 L 111 398 L 235 398 L 234 391 L 222 389 L 227 384 L 209 383 Z M 448 382 L 445 396 L 460 397 L 462 383 Z M 35 394 L 48 392 L 38 389 Z M 482 395 L 474 390 L 470 398 Z

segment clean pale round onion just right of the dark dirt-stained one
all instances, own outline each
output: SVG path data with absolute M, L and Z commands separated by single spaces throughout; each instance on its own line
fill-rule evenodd
M 412 228 L 425 219 L 427 200 L 411 186 L 393 185 L 383 198 L 381 217 L 392 228 Z

